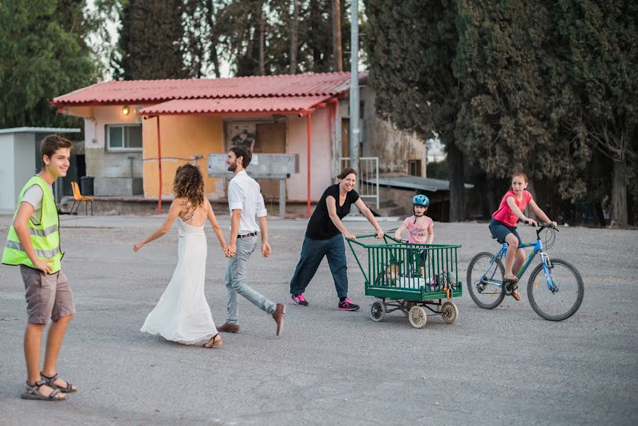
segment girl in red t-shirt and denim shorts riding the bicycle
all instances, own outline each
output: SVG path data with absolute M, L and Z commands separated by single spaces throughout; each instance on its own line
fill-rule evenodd
M 517 172 L 512 175 L 512 189 L 505 193 L 490 221 L 492 236 L 499 241 L 505 241 L 508 245 L 507 253 L 505 254 L 505 275 L 503 280 L 514 283 L 512 285 L 512 297 L 515 300 L 521 300 L 521 295 L 515 283 L 518 281 L 517 274 L 525 261 L 525 251 L 518 249 L 518 245 L 522 244 L 523 241 L 516 231 L 516 222 L 521 219 L 526 224 L 537 226 L 537 222 L 534 219 L 530 219 L 523 214 L 523 210 L 529 204 L 534 214 L 543 222 L 557 226 L 556 222 L 552 222 L 545 212 L 538 207 L 538 204 L 532 198 L 532 194 L 526 188 L 527 175 L 525 173 Z

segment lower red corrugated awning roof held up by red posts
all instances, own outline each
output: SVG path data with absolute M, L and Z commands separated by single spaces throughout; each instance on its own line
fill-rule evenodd
M 331 96 L 173 99 L 141 109 L 143 115 L 275 113 L 307 111 Z

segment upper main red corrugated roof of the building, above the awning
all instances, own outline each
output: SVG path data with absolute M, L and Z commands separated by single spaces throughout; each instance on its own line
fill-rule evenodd
M 361 75 L 365 78 L 365 73 Z M 148 104 L 171 99 L 334 96 L 350 87 L 349 72 L 199 80 L 133 80 L 94 84 L 53 99 L 56 107 Z

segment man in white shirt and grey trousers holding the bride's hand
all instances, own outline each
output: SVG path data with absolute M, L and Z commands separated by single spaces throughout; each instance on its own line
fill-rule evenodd
M 253 302 L 261 310 L 273 315 L 277 323 L 277 336 L 284 327 L 285 305 L 268 300 L 262 294 L 246 284 L 246 265 L 257 246 L 257 236 L 261 234 L 261 253 L 270 256 L 268 244 L 268 224 L 266 209 L 259 184 L 248 174 L 246 167 L 251 163 L 253 154 L 243 146 L 233 146 L 229 150 L 226 164 L 234 173 L 229 184 L 229 209 L 231 211 L 231 238 L 226 249 L 229 257 L 226 268 L 226 289 L 228 290 L 228 317 L 226 323 L 217 327 L 219 332 L 239 332 L 239 305 L 237 295 L 240 294 Z M 255 222 L 259 219 L 259 226 Z

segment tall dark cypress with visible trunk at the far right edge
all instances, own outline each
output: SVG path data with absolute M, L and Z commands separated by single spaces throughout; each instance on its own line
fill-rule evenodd
M 623 0 L 559 2 L 559 34 L 572 59 L 572 136 L 612 163 L 611 219 L 629 222 L 627 186 L 638 195 L 638 5 Z

